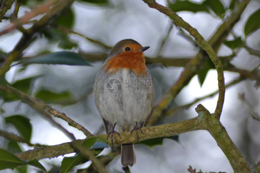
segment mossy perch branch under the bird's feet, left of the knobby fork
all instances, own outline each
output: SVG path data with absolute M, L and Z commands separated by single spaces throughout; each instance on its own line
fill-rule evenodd
M 179 133 L 185 133 L 194 130 L 201 130 L 202 126 L 198 118 L 193 118 L 190 120 L 184 120 L 180 122 L 168 123 L 160 126 L 153 127 L 143 127 L 142 131 L 144 134 L 139 133 L 139 141 L 146 139 L 153 139 L 157 137 L 163 136 L 172 136 Z M 137 143 L 138 139 L 135 135 L 130 135 L 130 132 L 120 133 L 121 138 L 119 136 L 114 135 L 114 145 L 124 144 L 124 143 Z M 94 137 L 100 137 L 102 139 L 107 140 L 107 135 L 96 135 Z M 85 139 L 76 140 L 79 143 L 83 143 Z M 112 145 L 109 143 L 109 145 Z M 32 159 L 44 159 L 44 158 L 53 158 L 59 155 L 65 155 L 69 153 L 76 152 L 73 149 L 72 142 L 62 143 L 55 146 L 41 146 L 39 148 L 35 148 L 32 150 L 28 150 L 25 152 L 21 152 L 16 154 L 20 159 L 25 161 L 30 161 Z

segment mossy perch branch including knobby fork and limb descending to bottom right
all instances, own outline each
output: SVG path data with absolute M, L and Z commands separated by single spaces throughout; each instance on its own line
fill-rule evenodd
M 206 110 L 206 108 L 201 104 L 197 106 L 196 111 L 198 113 L 196 118 L 180 122 L 167 123 L 159 126 L 143 127 L 142 131 L 144 134 L 138 134 L 139 141 L 157 137 L 172 136 L 194 130 L 207 130 L 216 140 L 218 146 L 222 149 L 227 158 L 229 158 L 229 162 L 235 172 L 251 172 L 247 162 L 228 136 L 226 129 L 222 126 L 218 117 L 210 114 L 210 112 Z M 138 139 L 135 135 L 131 136 L 131 132 L 120 133 L 120 135 L 121 138 L 117 135 L 114 136 L 114 145 L 138 142 Z M 107 135 L 96 135 L 95 137 L 107 139 Z M 81 144 L 83 143 L 84 139 L 76 141 Z M 111 145 L 111 142 L 109 145 Z M 32 159 L 39 160 L 44 158 L 53 158 L 59 155 L 73 152 L 75 152 L 75 150 L 72 147 L 72 142 L 69 142 L 55 146 L 41 146 L 39 148 L 17 153 L 16 156 L 25 161 L 30 161 Z

